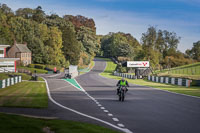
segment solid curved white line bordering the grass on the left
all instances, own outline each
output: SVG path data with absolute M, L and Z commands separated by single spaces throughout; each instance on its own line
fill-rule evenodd
M 96 117 L 93 117 L 93 116 L 90 116 L 90 115 L 87 115 L 87 114 L 84 114 L 84 113 L 81 113 L 81 112 L 79 112 L 79 111 L 77 111 L 77 110 L 68 108 L 68 107 L 63 106 L 62 104 L 56 102 L 56 101 L 51 97 L 51 93 L 50 93 L 50 90 L 49 90 L 49 86 L 48 86 L 47 80 L 46 80 L 45 78 L 43 78 L 43 79 L 44 79 L 45 82 L 46 82 L 46 88 L 47 88 L 47 93 L 48 93 L 49 99 L 50 99 L 54 104 L 56 104 L 57 106 L 60 106 L 61 108 L 64 108 L 64 109 L 69 110 L 69 111 L 72 111 L 72 112 L 74 112 L 74 113 L 76 113 L 76 114 L 79 114 L 79 115 L 81 115 L 81 116 L 84 116 L 84 117 L 87 117 L 87 118 L 90 118 L 90 119 L 93 119 L 93 120 L 102 122 L 102 123 L 107 124 L 107 125 L 109 125 L 109 126 L 111 126 L 111 127 L 113 127 L 113 128 L 116 128 L 116 129 L 118 129 L 118 130 L 121 130 L 121 131 L 123 131 L 123 132 L 125 132 L 125 133 L 132 133 L 129 129 L 117 127 L 117 126 L 115 126 L 115 125 L 113 125 L 113 124 L 111 124 L 111 123 L 109 123 L 109 122 L 107 122 L 107 121 L 101 120 L 101 119 L 99 119 L 99 118 L 96 118 Z M 76 87 L 76 88 L 77 88 L 77 87 Z

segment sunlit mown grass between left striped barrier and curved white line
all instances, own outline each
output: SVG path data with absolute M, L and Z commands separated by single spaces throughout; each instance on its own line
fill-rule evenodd
M 0 106 L 46 108 L 48 97 L 45 82 L 24 81 L 0 89 Z

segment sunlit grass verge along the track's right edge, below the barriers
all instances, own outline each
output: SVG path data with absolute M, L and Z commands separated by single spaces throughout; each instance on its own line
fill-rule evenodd
M 103 73 L 100 75 L 107 77 L 107 78 L 112 78 L 116 80 L 120 80 L 121 77 L 114 76 L 112 73 L 115 70 L 115 64 L 107 59 L 107 67 Z M 171 84 L 161 84 L 161 83 L 155 83 L 151 82 L 148 80 L 143 80 L 143 79 L 126 79 L 129 83 L 137 84 L 137 85 L 142 85 L 142 86 L 149 86 L 153 88 L 158 88 L 162 90 L 167 90 L 171 92 L 176 92 L 176 93 L 181 93 L 181 94 L 187 94 L 191 96 L 198 96 L 200 97 L 200 87 L 184 87 L 184 86 L 178 86 L 178 85 L 171 85 Z

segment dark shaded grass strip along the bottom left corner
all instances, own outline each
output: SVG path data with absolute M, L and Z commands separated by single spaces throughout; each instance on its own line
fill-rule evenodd
M 49 127 L 55 133 L 118 133 L 94 124 L 66 121 L 29 118 L 18 115 L 0 113 L 1 133 L 45 133 L 44 128 Z

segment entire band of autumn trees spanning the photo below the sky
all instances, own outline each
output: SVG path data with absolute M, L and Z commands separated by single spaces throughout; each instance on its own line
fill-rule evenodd
M 134 30 L 134 29 L 133 29 Z M 37 64 L 88 65 L 98 56 L 118 61 L 149 60 L 155 69 L 200 61 L 200 41 L 182 53 L 174 32 L 149 27 L 138 42 L 122 32 L 96 35 L 93 19 L 84 16 L 47 15 L 40 6 L 15 12 L 0 4 L 0 44 L 27 43 Z

